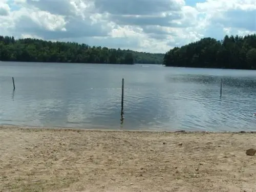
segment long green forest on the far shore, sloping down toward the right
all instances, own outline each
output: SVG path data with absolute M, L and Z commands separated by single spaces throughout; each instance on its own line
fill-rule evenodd
M 112 64 L 162 64 L 164 54 L 91 47 L 77 42 L 15 39 L 0 36 L 0 60 L 24 62 L 73 62 Z

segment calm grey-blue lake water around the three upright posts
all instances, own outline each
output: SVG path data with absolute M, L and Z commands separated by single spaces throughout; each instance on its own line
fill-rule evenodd
M 122 78 L 125 82 L 121 123 Z M 256 71 L 0 62 L 0 124 L 256 131 L 254 113 Z

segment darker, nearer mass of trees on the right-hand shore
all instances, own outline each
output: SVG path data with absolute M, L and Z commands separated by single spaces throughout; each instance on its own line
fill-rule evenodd
M 226 35 L 221 41 L 202 38 L 169 50 L 164 55 L 163 65 L 256 70 L 256 35 Z

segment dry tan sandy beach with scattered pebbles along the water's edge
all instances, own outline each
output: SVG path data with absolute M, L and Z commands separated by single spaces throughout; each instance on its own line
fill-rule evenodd
M 255 136 L 0 126 L 0 191 L 252 192 Z

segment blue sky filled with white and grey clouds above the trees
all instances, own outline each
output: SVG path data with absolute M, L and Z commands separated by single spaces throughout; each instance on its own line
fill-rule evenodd
M 0 0 L 0 35 L 165 53 L 256 33 L 256 0 Z

